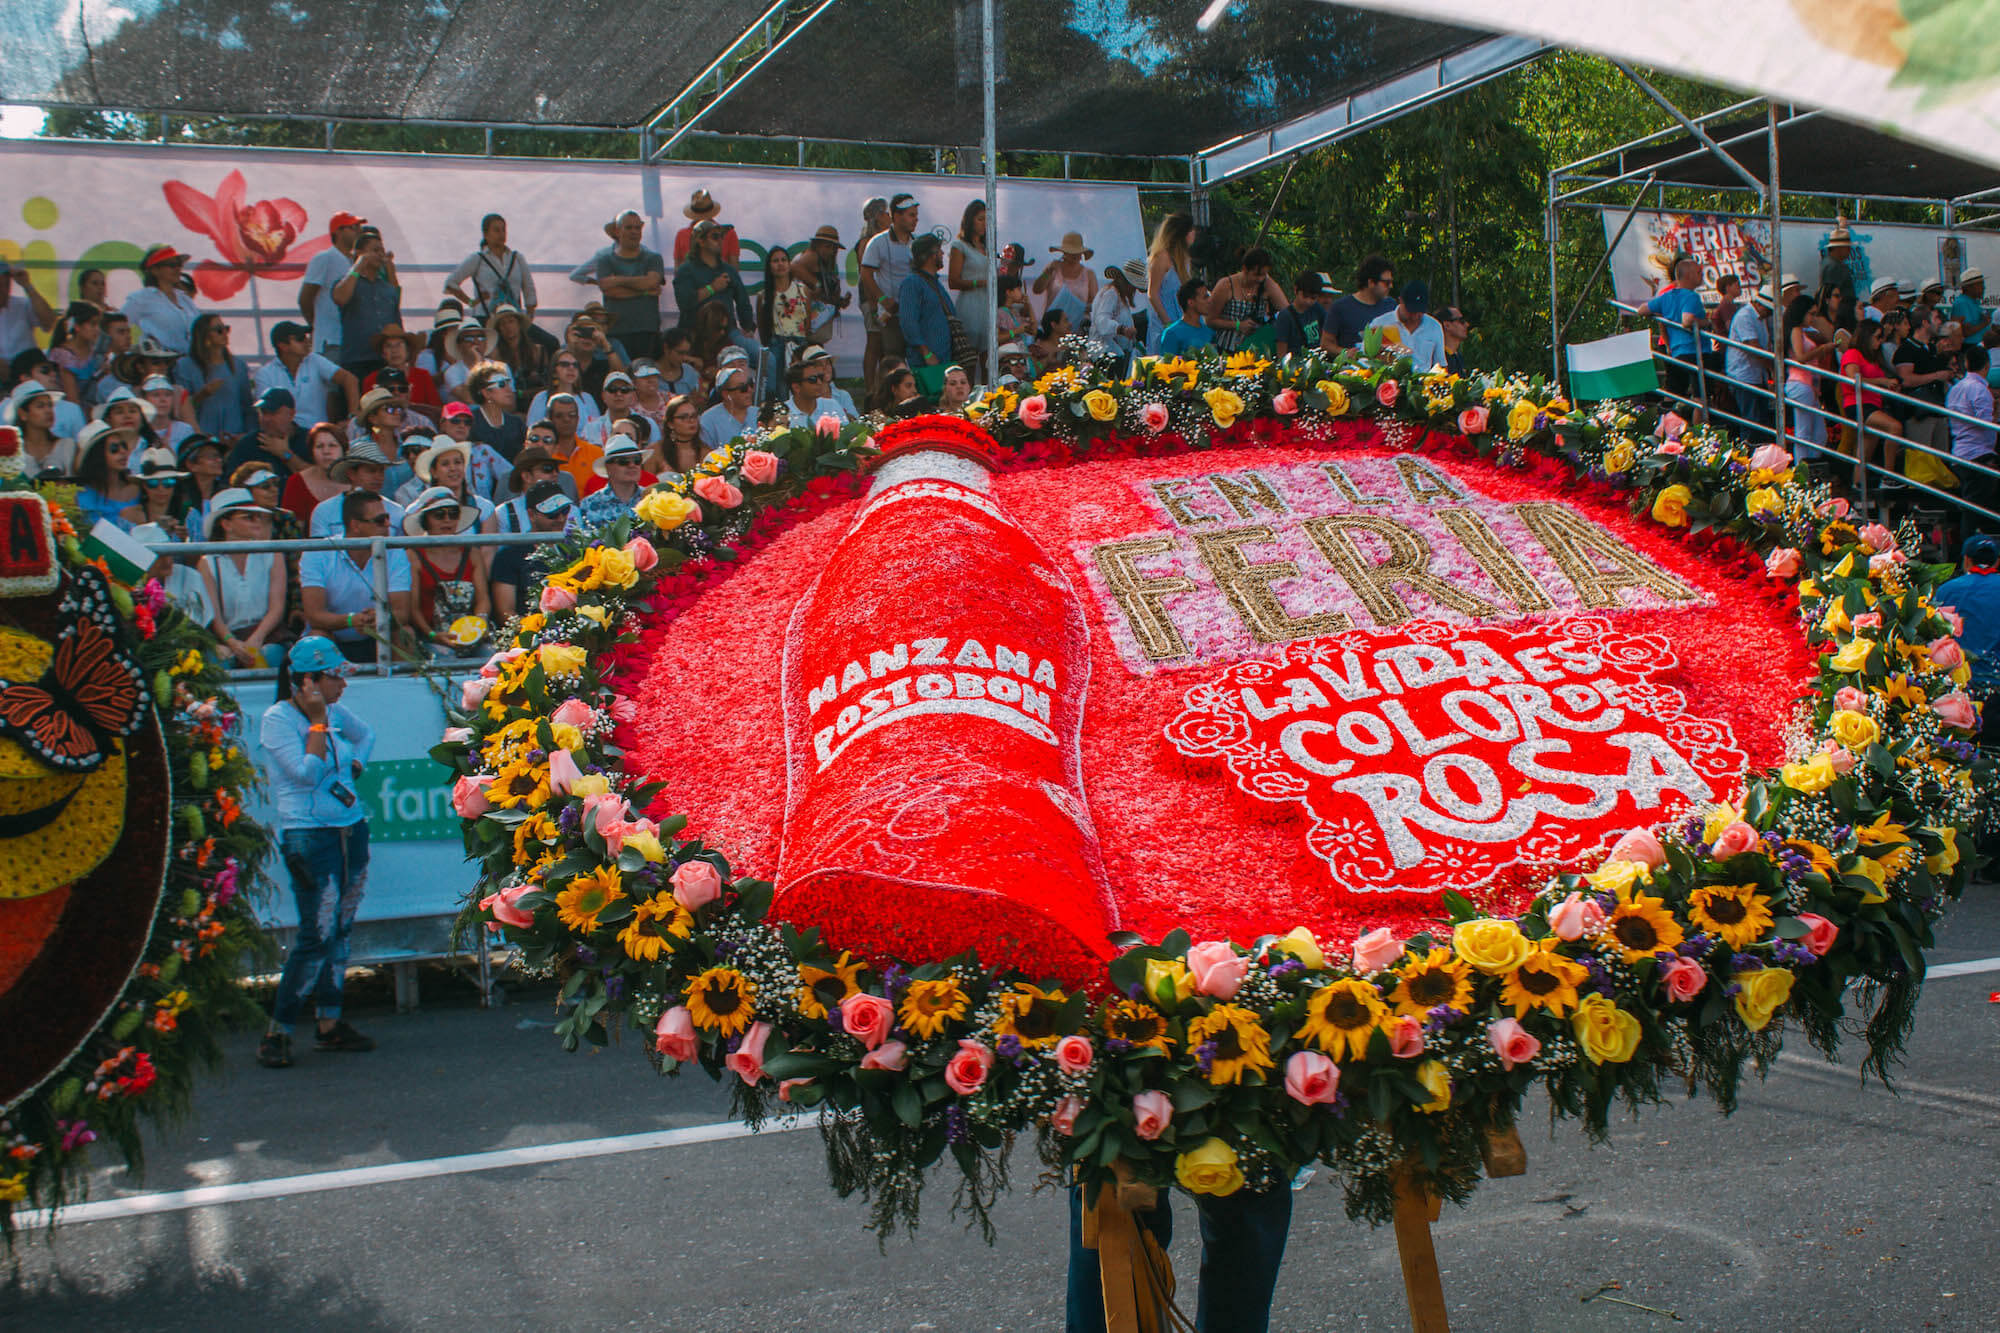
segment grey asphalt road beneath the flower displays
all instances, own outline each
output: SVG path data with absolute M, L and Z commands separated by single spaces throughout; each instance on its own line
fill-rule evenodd
M 2000 959 L 1992 887 L 1934 955 L 1974 959 Z M 416 1015 L 362 989 L 372 1055 L 274 1073 L 240 1041 L 144 1181 L 104 1169 L 92 1199 L 728 1121 L 722 1091 L 630 1045 L 564 1055 L 548 995 L 482 1011 L 426 987 Z M 1452 1327 L 2000 1329 L 1994 991 L 2000 971 L 1926 987 L 1898 1095 L 1796 1043 L 1728 1119 L 1656 1107 L 1590 1147 L 1532 1109 L 1528 1175 L 1436 1227 Z M 946 1187 L 914 1243 L 878 1249 L 812 1131 L 64 1223 L 20 1241 L 0 1329 L 1060 1329 L 1064 1199 L 1030 1189 L 1026 1153 L 1016 1175 L 994 1247 Z M 1274 1327 L 1406 1329 L 1388 1231 L 1350 1225 L 1324 1177 L 1296 1205 Z

